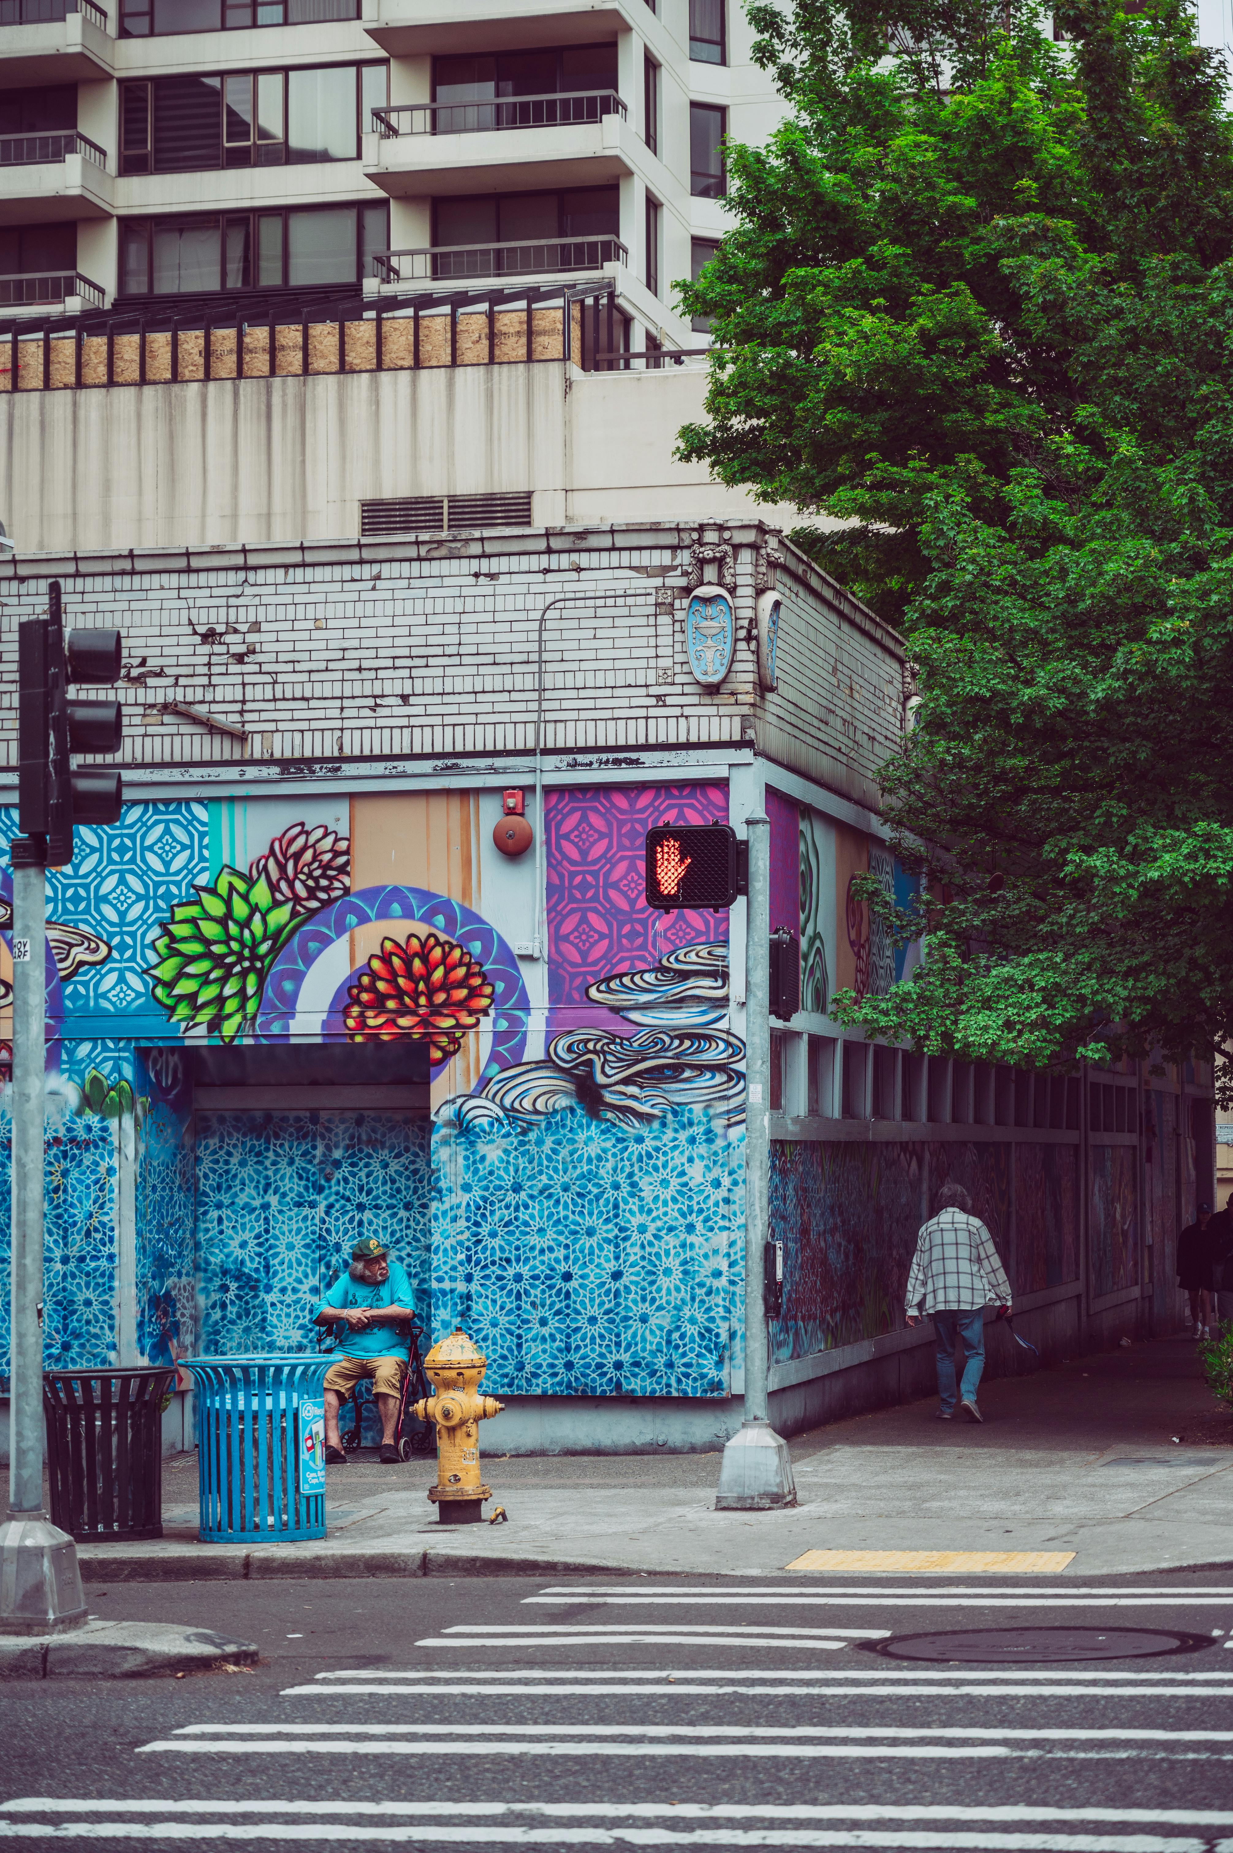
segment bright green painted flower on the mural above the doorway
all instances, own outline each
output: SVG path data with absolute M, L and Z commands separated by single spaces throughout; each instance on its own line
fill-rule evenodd
M 222 869 L 176 902 L 154 941 L 156 1002 L 185 1030 L 234 1041 L 252 1028 L 269 967 L 297 925 L 295 902 L 274 902 L 263 873 Z

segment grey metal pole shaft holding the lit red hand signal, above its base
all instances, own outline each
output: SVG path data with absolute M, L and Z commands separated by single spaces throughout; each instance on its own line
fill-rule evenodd
M 771 821 L 745 817 L 749 904 L 745 910 L 745 1421 L 766 1421 L 766 1308 L 762 1251 L 771 1160 Z

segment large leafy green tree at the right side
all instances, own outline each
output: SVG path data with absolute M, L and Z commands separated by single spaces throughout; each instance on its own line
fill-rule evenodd
M 927 930 L 870 1034 L 1012 1062 L 1233 1027 L 1233 132 L 1177 0 L 753 6 L 684 456 L 903 626 L 884 769 Z M 875 895 L 871 902 L 884 906 Z M 894 912 L 894 910 L 890 910 Z

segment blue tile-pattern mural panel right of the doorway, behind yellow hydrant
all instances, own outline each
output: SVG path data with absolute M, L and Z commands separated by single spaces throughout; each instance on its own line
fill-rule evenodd
M 725 1395 L 744 1140 L 673 1108 L 434 1128 L 434 1332 L 493 1395 Z

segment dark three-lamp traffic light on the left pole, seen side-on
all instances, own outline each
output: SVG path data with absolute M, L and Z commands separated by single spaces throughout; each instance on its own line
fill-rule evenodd
M 19 860 L 57 869 L 72 862 L 76 823 L 119 823 L 115 767 L 72 769 L 72 752 L 119 752 L 119 700 L 69 700 L 69 684 L 111 684 L 121 674 L 119 630 L 70 630 L 65 637 L 59 580 L 48 587 L 48 615 L 17 632 L 19 821 L 30 847 Z

